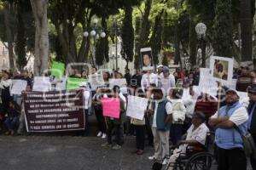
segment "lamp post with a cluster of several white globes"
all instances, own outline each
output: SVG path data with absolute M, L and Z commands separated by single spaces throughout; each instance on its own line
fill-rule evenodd
M 96 58 L 96 39 L 99 39 L 100 37 L 104 38 L 106 37 L 106 33 L 104 31 L 99 31 L 97 28 L 98 20 L 94 19 L 92 21 L 92 30 L 90 31 L 90 34 L 88 31 L 84 31 L 84 37 L 92 37 L 93 38 L 93 45 L 92 45 L 92 65 L 95 65 L 94 59 Z

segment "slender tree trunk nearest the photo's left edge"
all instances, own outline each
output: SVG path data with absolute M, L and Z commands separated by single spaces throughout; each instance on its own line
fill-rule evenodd
M 8 41 L 8 51 L 9 51 L 9 66 L 12 71 L 15 71 L 15 57 L 14 57 L 14 44 L 12 38 L 12 32 L 9 26 L 9 12 L 11 4 L 9 2 L 4 3 L 4 25 L 6 28 L 6 36 Z

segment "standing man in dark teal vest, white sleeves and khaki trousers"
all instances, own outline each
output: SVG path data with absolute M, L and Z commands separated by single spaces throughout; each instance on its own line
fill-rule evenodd
M 154 156 L 148 159 L 162 160 L 169 156 L 169 134 L 172 122 L 172 104 L 166 98 L 163 98 L 163 92 L 160 88 L 152 90 L 155 101 L 149 105 L 148 116 L 154 136 Z M 166 161 L 163 162 L 166 164 Z

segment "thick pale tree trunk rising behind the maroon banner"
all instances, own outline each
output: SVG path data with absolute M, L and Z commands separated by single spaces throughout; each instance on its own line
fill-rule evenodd
M 32 11 L 35 18 L 36 40 L 34 74 L 39 76 L 48 68 L 49 36 L 47 22 L 48 0 L 31 0 Z

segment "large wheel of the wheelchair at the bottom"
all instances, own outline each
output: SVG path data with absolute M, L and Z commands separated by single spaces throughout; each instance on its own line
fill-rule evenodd
M 189 158 L 185 170 L 210 170 L 212 167 L 212 154 L 200 152 Z

